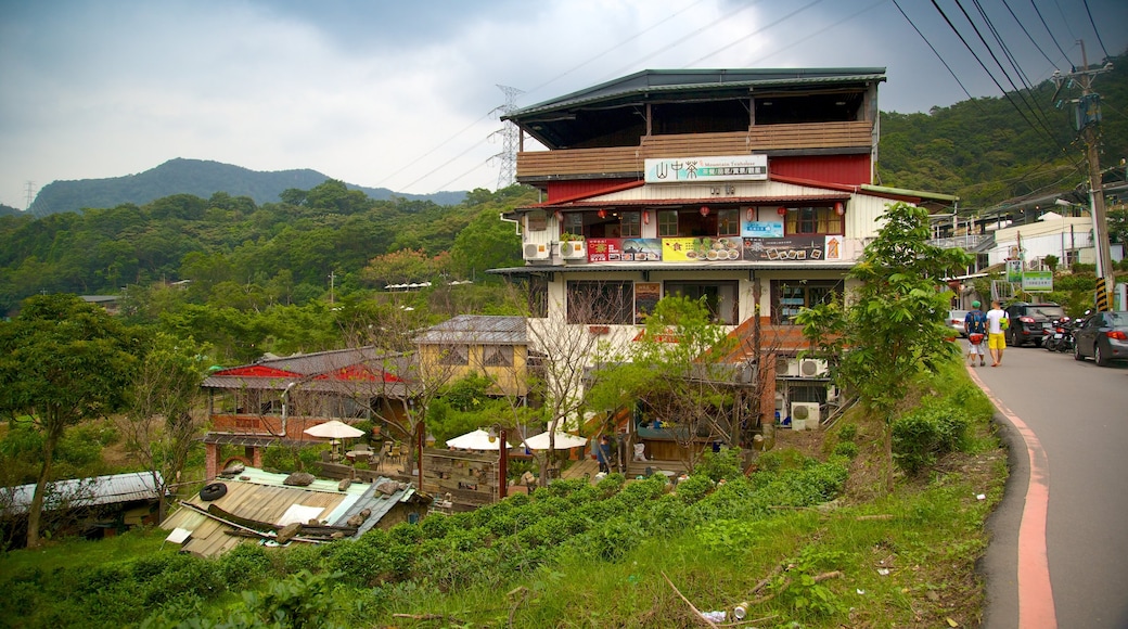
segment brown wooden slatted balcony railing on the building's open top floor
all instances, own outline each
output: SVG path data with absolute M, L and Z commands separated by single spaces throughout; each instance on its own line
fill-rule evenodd
M 638 145 L 600 149 L 522 151 L 517 156 L 518 180 L 580 176 L 637 176 L 646 159 L 740 156 L 782 150 L 869 148 L 869 121 L 752 126 L 747 132 L 649 135 Z

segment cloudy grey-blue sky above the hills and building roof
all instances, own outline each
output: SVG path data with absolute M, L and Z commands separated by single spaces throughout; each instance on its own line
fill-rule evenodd
M 1077 39 L 1094 63 L 1128 45 L 1123 0 L 937 3 L 992 74 L 926 0 L 0 0 L 0 203 L 178 157 L 493 189 L 497 86 L 523 107 L 644 69 L 884 67 L 902 113 L 999 96 L 960 5 L 1031 83 Z

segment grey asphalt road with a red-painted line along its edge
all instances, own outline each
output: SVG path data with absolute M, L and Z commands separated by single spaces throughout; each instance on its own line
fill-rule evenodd
M 971 371 L 1012 462 L 980 564 L 984 626 L 1128 628 L 1128 365 L 1012 347 Z

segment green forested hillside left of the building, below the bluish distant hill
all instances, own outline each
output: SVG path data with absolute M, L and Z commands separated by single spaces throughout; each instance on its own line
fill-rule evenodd
M 282 197 L 259 205 L 227 193 L 180 194 L 43 219 L 0 216 L 0 311 L 35 293 L 122 294 L 127 317 L 164 317 L 221 356 L 340 347 L 331 301 L 353 308 L 389 283 L 481 284 L 487 268 L 522 264 L 519 237 L 497 215 L 535 202 L 536 192 L 478 189 L 441 206 L 373 201 L 329 180 Z M 279 309 L 287 314 L 267 321 Z M 279 338 L 285 346 L 270 345 Z

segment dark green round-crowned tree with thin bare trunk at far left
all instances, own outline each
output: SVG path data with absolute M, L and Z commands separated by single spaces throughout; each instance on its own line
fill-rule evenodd
M 43 458 L 28 508 L 27 546 L 39 544 L 44 491 L 67 429 L 118 410 L 136 369 L 140 338 L 74 295 L 29 298 L 0 322 L 0 413 L 43 433 Z

